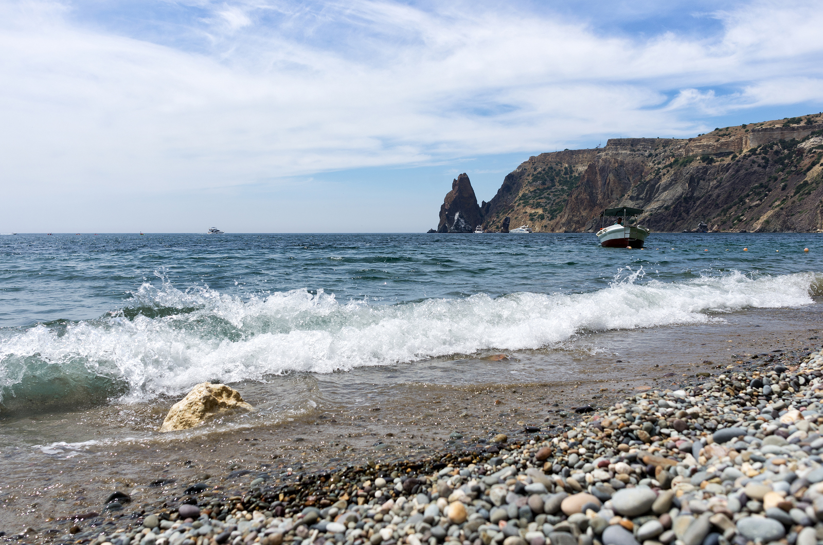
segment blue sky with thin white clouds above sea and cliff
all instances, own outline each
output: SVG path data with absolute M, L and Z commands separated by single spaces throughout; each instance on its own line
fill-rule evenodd
M 823 111 L 819 0 L 0 0 L 0 232 L 419 232 L 543 151 Z

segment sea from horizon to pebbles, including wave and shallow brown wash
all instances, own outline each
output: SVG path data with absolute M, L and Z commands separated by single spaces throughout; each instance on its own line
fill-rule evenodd
M 575 392 L 598 403 L 663 371 L 820 347 L 823 235 L 646 242 L 0 235 L 0 528 L 148 494 L 162 472 L 425 451 L 539 426 Z M 157 431 L 205 381 L 255 410 Z

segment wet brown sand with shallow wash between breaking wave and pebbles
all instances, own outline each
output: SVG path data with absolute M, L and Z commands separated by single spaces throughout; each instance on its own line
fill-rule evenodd
M 723 322 L 581 335 L 561 350 L 506 352 L 499 360 L 492 353 L 453 356 L 233 384 L 260 411 L 194 432 L 151 432 L 176 399 L 8 417 L 6 436 L 30 443 L 2 446 L 0 530 L 62 528 L 73 515 L 101 512 L 115 490 L 132 496 L 114 515 L 128 516 L 182 495 L 193 482 L 248 486 L 242 477 L 227 478 L 232 470 L 300 473 L 421 459 L 498 432 L 523 434 L 524 426 L 548 431 L 579 420 L 574 408 L 607 407 L 643 389 L 678 389 L 700 382 L 697 373 L 760 366 L 765 357 L 756 354 L 783 350 L 792 359 L 820 345 L 809 338 L 820 333 L 821 312 L 820 303 L 746 310 Z M 462 437 L 451 438 L 454 432 Z M 137 439 L 123 439 L 129 436 Z M 49 444 L 95 438 L 100 443 L 89 446 Z

